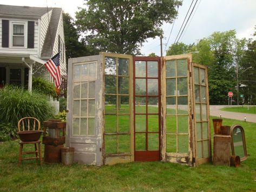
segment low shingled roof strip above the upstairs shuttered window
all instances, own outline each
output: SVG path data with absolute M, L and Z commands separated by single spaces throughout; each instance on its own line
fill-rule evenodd
M 52 8 L 48 8 L 48 11 L 51 9 Z M 35 6 L 0 5 L 1 15 L 41 17 L 46 13 L 47 8 L 39 8 Z

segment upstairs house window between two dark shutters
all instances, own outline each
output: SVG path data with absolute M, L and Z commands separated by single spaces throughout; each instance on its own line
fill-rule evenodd
M 24 47 L 24 24 L 13 24 L 12 25 L 12 46 L 13 47 Z

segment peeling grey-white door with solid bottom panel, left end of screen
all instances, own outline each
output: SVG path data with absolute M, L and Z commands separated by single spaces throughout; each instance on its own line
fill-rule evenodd
M 74 161 L 102 164 L 102 56 L 69 59 L 67 98 L 68 147 Z

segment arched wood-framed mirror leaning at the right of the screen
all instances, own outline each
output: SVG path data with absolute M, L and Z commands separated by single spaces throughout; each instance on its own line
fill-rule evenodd
M 237 155 L 241 161 L 245 161 L 247 159 L 247 151 L 244 129 L 241 125 L 232 125 L 230 134 L 232 155 Z

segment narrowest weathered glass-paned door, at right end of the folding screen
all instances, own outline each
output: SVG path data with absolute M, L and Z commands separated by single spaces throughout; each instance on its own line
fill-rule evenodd
M 211 161 L 211 129 L 209 123 L 209 94 L 207 68 L 193 63 L 195 163 Z

